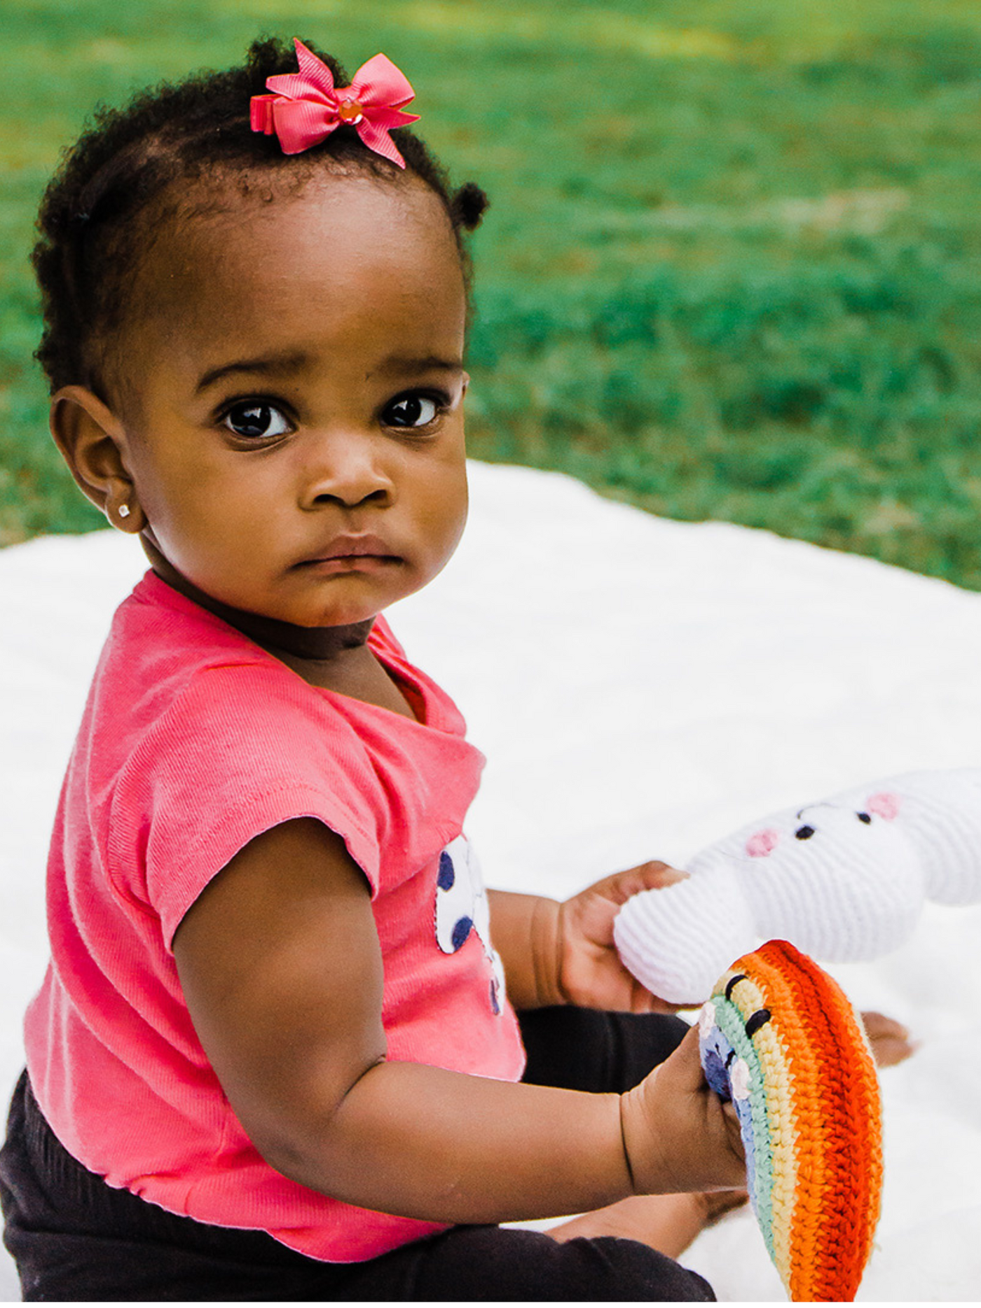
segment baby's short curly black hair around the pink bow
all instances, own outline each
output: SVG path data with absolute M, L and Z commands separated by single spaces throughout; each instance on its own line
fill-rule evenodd
M 348 84 L 335 59 L 303 43 L 323 59 L 337 85 Z M 33 263 L 44 331 L 35 357 L 52 391 L 72 382 L 101 390 L 102 349 L 122 322 L 149 225 L 160 218 L 160 205 L 175 183 L 239 174 L 249 192 L 262 178 L 300 186 L 318 167 L 337 165 L 379 178 L 395 175 L 394 165 L 371 153 L 352 127 L 339 127 L 294 156 L 284 154 L 275 136 L 251 129 L 251 97 L 266 92 L 267 77 L 294 71 L 292 43 L 264 38 L 252 43 L 237 68 L 164 82 L 122 109 L 95 111 L 92 126 L 65 153 L 38 215 Z M 419 136 L 407 127 L 396 133 L 407 171 L 429 186 L 446 209 L 470 286 L 463 233 L 480 222 L 487 195 L 472 182 L 451 188 Z

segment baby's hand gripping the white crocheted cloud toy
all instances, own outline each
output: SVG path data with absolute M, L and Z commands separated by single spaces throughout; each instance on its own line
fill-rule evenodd
M 620 1012 L 675 1012 L 676 1005 L 653 995 L 620 961 L 613 918 L 640 891 L 684 879 L 666 863 L 649 862 L 596 882 L 559 905 L 559 990 L 566 1003 Z

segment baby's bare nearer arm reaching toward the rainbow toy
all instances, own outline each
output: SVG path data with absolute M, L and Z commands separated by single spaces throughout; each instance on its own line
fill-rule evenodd
M 313 819 L 247 845 L 188 910 L 174 955 L 232 1107 L 267 1162 L 303 1185 L 467 1223 L 599 1207 L 634 1181 L 657 1189 L 661 1172 L 676 1185 L 675 1151 L 647 1139 L 644 1096 L 624 1099 L 621 1124 L 616 1095 L 386 1061 L 368 884 Z

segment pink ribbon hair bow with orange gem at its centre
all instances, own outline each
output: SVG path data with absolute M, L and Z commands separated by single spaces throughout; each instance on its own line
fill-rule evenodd
M 266 85 L 276 94 L 252 95 L 252 131 L 267 136 L 275 132 L 284 154 L 300 154 L 348 124 L 370 150 L 405 167 L 388 131 L 417 122 L 419 114 L 402 112 L 416 93 L 395 64 L 375 55 L 358 68 L 349 86 L 335 90 L 327 64 L 302 41 L 294 38 L 293 44 L 300 71 L 268 77 Z

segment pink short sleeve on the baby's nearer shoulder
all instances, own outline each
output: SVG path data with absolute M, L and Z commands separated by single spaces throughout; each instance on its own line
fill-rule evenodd
M 279 666 L 195 675 L 123 768 L 106 837 L 110 882 L 160 917 L 171 948 L 181 920 L 250 840 L 317 818 L 378 891 L 383 795 L 347 719 Z

